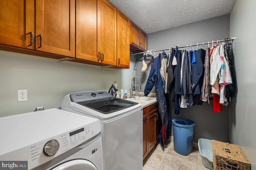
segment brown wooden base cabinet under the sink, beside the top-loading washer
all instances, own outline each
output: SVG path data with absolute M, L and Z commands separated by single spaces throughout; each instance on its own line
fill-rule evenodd
M 160 132 L 158 106 L 152 104 L 143 108 L 143 159 L 156 145 Z

